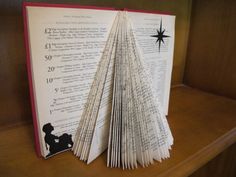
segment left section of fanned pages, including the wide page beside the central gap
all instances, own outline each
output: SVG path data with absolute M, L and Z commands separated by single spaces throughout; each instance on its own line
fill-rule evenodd
M 90 163 L 107 147 L 113 84 L 116 17 L 83 111 L 72 148 L 81 160 Z

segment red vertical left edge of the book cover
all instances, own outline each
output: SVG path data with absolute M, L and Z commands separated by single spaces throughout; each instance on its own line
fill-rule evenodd
M 40 143 L 39 143 L 39 132 L 38 132 L 38 124 L 37 124 L 37 116 L 35 110 L 35 98 L 33 91 L 33 78 L 32 78 L 32 70 L 31 70 L 31 61 L 30 61 L 30 49 L 29 49 L 29 38 L 28 38 L 28 20 L 26 13 L 26 5 L 27 3 L 23 2 L 23 21 L 24 21 L 24 44 L 26 49 L 26 64 L 27 64 L 27 74 L 28 74 L 28 82 L 29 82 L 29 90 L 30 90 L 30 101 L 31 101 L 31 110 L 33 116 L 33 125 L 34 125 L 34 140 L 35 140 L 35 148 L 38 157 L 41 157 Z

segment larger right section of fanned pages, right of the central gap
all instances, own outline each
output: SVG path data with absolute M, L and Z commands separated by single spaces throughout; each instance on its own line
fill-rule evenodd
M 107 166 L 133 169 L 168 158 L 173 137 L 131 20 L 119 13 Z

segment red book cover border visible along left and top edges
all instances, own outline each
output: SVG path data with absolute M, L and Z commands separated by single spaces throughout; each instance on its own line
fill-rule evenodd
M 140 13 L 154 13 L 154 14 L 163 14 L 170 15 L 168 12 L 159 12 L 159 11 L 147 11 L 147 10 L 132 10 L 132 9 L 116 9 L 111 7 L 96 7 L 96 6 L 81 6 L 78 4 L 48 4 L 48 3 L 34 3 L 34 2 L 23 2 L 22 4 L 22 12 L 23 12 L 23 20 L 24 20 L 24 41 L 25 41 L 25 49 L 26 49 L 26 64 L 27 64 L 27 72 L 28 72 L 28 81 L 29 81 L 29 90 L 30 90 L 30 99 L 31 99 L 31 110 L 33 117 L 33 125 L 34 125 L 34 139 L 35 139 L 35 148 L 36 153 L 40 157 L 40 143 L 39 143 L 39 130 L 37 125 L 37 114 L 36 114 L 36 105 L 35 105 L 35 97 L 33 90 L 33 76 L 31 70 L 31 58 L 30 58 L 30 44 L 29 44 L 29 33 L 28 33 L 28 20 L 27 20 L 27 12 L 26 8 L 29 6 L 33 7 L 57 7 L 57 8 L 80 8 L 80 9 L 100 9 L 100 10 L 124 10 L 128 12 L 140 12 Z

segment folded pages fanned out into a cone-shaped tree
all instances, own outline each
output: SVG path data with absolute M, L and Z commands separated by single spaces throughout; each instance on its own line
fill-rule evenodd
M 111 112 L 106 114 L 108 139 L 95 134 L 104 99 L 111 99 Z M 74 154 L 87 163 L 97 157 L 90 156 L 94 136 L 108 141 L 107 166 L 123 169 L 168 158 L 173 144 L 127 12 L 119 12 L 113 23 L 75 136 Z

